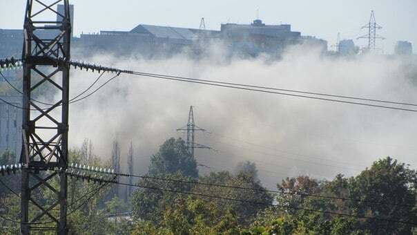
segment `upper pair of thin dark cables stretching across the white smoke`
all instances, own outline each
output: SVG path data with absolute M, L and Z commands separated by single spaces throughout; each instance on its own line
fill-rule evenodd
M 216 84 L 216 83 L 210 83 L 210 82 L 198 82 L 198 81 L 190 80 L 190 79 L 177 79 L 177 78 L 173 78 L 173 77 L 148 75 L 148 74 L 145 74 L 145 73 L 137 73 L 137 72 L 133 72 L 132 74 L 139 75 L 139 76 L 144 76 L 144 77 L 155 77 L 155 78 L 160 78 L 160 79 L 173 80 L 173 81 L 177 81 L 177 82 L 190 82 L 190 83 L 195 83 L 195 84 L 205 84 L 205 85 L 209 85 L 209 86 L 220 86 L 220 87 L 225 87 L 225 88 L 234 88 L 234 89 L 240 89 L 240 90 L 245 90 L 245 91 L 256 91 L 256 92 L 261 92 L 261 93 L 270 93 L 270 94 L 275 94 L 275 95 L 289 95 L 289 96 L 293 96 L 293 97 L 302 97 L 302 98 L 309 98 L 309 99 L 314 99 L 314 100 L 324 100 L 324 101 L 328 101 L 328 102 L 339 102 L 339 103 L 345 103 L 345 104 L 372 106 L 372 107 L 382 108 L 382 109 L 395 109 L 395 110 L 400 110 L 400 111 L 417 112 L 417 110 L 415 110 L 415 109 L 405 109 L 405 108 L 399 108 L 399 107 L 394 107 L 394 106 L 383 106 L 383 105 L 378 105 L 378 104 L 366 104 L 366 103 L 351 102 L 351 101 L 346 101 L 346 100 L 334 100 L 334 99 L 314 97 L 314 96 L 309 96 L 309 95 L 296 95 L 296 94 L 291 94 L 291 93 L 266 91 L 266 90 L 239 87 L 239 86 L 229 86 L 229 85 L 222 85 L 222 84 Z

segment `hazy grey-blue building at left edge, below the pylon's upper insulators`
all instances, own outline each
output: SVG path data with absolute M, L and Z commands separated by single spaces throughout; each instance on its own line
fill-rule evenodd
M 22 106 L 21 96 L 1 95 L 1 100 Z M 0 154 L 6 150 L 13 151 L 19 160 L 21 150 L 21 120 L 22 112 L 17 107 L 0 102 Z

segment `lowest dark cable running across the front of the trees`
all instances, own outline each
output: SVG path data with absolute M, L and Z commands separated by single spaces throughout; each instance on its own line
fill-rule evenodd
M 215 195 L 209 195 L 209 194 L 197 194 L 197 193 L 193 193 L 193 192 L 190 192 L 190 191 L 180 191 L 180 190 L 175 190 L 175 189 L 162 189 L 162 188 L 159 188 L 159 187 L 148 187 L 148 186 L 144 186 L 144 185 L 135 185 L 135 184 L 128 184 L 128 183 L 123 183 L 123 182 L 116 182 L 116 181 L 113 181 L 113 183 L 119 184 L 119 185 L 141 187 L 141 188 L 144 188 L 144 189 L 158 190 L 158 191 L 171 191 L 171 192 L 177 193 L 177 194 L 188 194 L 188 195 L 201 196 L 201 197 L 206 197 L 206 198 L 215 198 L 215 199 L 218 199 L 218 200 L 231 200 L 231 201 L 240 202 L 240 203 L 264 205 L 264 206 L 269 206 L 269 207 L 281 207 L 281 208 L 284 208 L 284 209 L 295 209 L 295 210 L 302 210 L 302 211 L 306 211 L 306 212 L 318 212 L 318 213 L 322 213 L 322 214 L 333 214 L 333 215 L 338 215 L 338 216 L 363 218 L 363 219 L 367 219 L 367 220 L 382 220 L 382 221 L 391 222 L 391 223 L 403 223 L 403 224 L 406 224 L 406 225 L 417 225 L 417 223 L 412 223 L 412 222 L 404 221 L 404 220 L 394 220 L 394 219 L 389 219 L 389 218 L 379 218 L 379 217 L 370 217 L 370 216 L 358 216 L 358 215 L 354 215 L 354 214 L 345 214 L 345 213 L 339 213 L 339 212 L 328 212 L 328 211 L 322 211 L 322 210 L 318 210 L 318 209 L 309 209 L 309 208 L 304 208 L 304 207 L 291 207 L 291 206 L 287 206 L 287 205 L 273 205 L 273 204 L 270 204 L 270 203 L 261 203 L 261 202 L 252 201 L 252 200 L 242 200 L 242 199 L 237 199 L 237 198 L 226 198 L 226 197 L 222 197 L 222 196 L 215 196 Z

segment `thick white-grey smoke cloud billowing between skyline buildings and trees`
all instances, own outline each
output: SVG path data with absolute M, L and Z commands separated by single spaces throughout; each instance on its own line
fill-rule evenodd
M 181 75 L 226 82 L 299 89 L 320 93 L 371 97 L 416 103 L 415 62 L 382 55 L 336 58 L 302 46 L 280 60 L 224 59 L 222 47 L 204 58 L 177 55 L 169 59 L 121 58 L 96 55 L 89 62 L 133 71 Z M 412 67 L 414 66 L 414 67 Z M 71 72 L 71 96 L 94 81 L 85 71 Z M 104 75 L 102 81 L 112 76 Z M 130 141 L 137 173 L 144 173 L 150 156 L 186 124 L 195 106 L 195 122 L 212 134 L 197 142 L 217 151 L 199 150 L 197 160 L 208 170 L 231 170 L 237 162 L 257 163 L 261 180 L 272 187 L 285 176 L 309 174 L 332 178 L 351 176 L 371 162 L 393 156 L 415 167 L 416 113 L 338 104 L 282 95 L 254 93 L 121 75 L 97 94 L 70 106 L 70 146 L 93 140 L 96 153 L 109 158 L 119 140 L 122 160 Z M 125 164 L 125 163 L 124 163 Z M 122 165 L 124 165 L 122 164 Z

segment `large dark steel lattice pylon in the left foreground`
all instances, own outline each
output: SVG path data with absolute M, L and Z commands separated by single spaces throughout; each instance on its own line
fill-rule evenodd
M 55 8 L 64 4 L 64 13 Z M 37 9 L 39 11 L 35 11 Z M 55 231 L 68 234 L 68 94 L 70 77 L 71 21 L 68 0 L 27 0 L 23 25 L 23 119 L 21 177 L 21 234 Z M 50 15 L 57 21 L 44 21 Z M 41 77 L 40 81 L 32 78 Z M 32 93 L 50 86 L 59 94 L 53 105 L 42 106 L 31 100 Z M 52 170 L 52 171 L 49 171 Z M 57 187 L 51 184 L 57 179 Z M 55 197 L 39 201 L 39 189 Z M 32 205 L 29 207 L 29 203 Z M 53 212 L 52 212 L 53 211 Z M 50 222 L 52 223 L 44 223 Z

